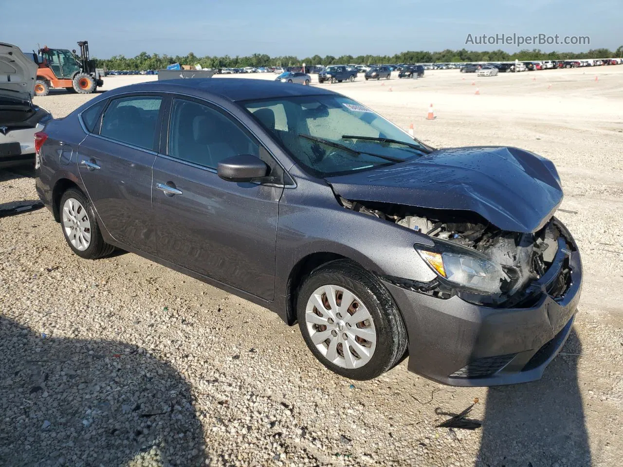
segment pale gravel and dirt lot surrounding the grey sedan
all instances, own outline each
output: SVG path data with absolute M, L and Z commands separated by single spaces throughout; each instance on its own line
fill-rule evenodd
M 545 377 L 450 388 L 403 362 L 340 379 L 275 314 L 133 254 L 80 260 L 38 210 L 0 219 L 0 465 L 623 465 L 623 66 L 322 86 L 433 146 L 556 163 L 585 275 Z M 61 117 L 88 98 L 36 103 Z M 27 175 L 0 174 L 0 206 L 37 199 Z M 482 428 L 435 428 L 474 398 Z

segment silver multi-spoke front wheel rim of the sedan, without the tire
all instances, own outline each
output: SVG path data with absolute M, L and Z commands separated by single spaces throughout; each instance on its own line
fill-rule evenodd
M 317 288 L 307 301 L 305 322 L 313 344 L 334 365 L 360 368 L 374 355 L 373 318 L 363 302 L 342 286 Z

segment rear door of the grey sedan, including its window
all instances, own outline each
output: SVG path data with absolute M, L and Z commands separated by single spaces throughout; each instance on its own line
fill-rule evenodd
M 78 167 L 105 228 L 123 245 L 156 252 L 151 170 L 156 160 L 163 96 L 113 98 L 93 134 L 78 148 Z

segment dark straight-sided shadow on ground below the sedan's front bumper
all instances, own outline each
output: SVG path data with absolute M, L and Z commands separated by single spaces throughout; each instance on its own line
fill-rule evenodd
M 543 379 L 491 387 L 483 420 L 479 461 L 487 467 L 591 466 L 574 330 Z M 573 354 L 573 355 L 564 355 Z

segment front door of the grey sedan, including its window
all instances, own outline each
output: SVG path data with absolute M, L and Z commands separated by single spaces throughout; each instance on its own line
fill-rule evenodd
M 153 167 L 158 256 L 273 300 L 283 187 L 216 174 L 229 156 L 270 154 L 230 116 L 199 101 L 174 99 L 168 128 L 166 154 Z

